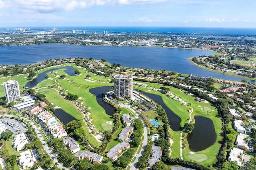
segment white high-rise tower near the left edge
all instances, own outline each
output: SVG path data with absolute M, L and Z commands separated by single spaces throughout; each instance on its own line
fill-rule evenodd
M 8 101 L 8 103 L 10 103 L 10 101 L 20 99 L 20 89 L 18 81 L 9 80 L 7 82 L 4 82 L 3 84 L 6 101 Z

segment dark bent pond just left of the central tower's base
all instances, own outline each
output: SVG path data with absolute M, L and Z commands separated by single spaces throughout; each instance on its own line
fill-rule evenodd
M 113 114 L 116 112 L 116 109 L 114 107 L 112 107 L 111 105 L 109 105 L 108 103 L 106 103 L 102 99 L 102 93 L 106 93 L 110 89 L 112 89 L 112 87 L 105 86 L 105 87 L 96 87 L 96 88 L 90 89 L 89 91 L 90 91 L 90 93 L 92 93 L 96 96 L 96 100 L 97 100 L 98 104 L 101 107 L 103 107 L 103 109 L 106 111 L 106 113 L 110 116 L 113 116 Z

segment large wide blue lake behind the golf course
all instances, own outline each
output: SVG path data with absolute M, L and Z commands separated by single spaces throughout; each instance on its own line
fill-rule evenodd
M 130 46 L 82 46 L 68 44 L 40 44 L 23 46 L 1 46 L 0 62 L 5 65 L 32 64 L 53 58 L 94 58 L 106 59 L 126 67 L 176 71 L 184 74 L 212 76 L 219 79 L 241 81 L 242 78 L 223 75 L 196 67 L 188 61 L 190 57 L 214 55 L 212 51 L 178 49 L 166 47 Z M 252 82 L 251 80 L 247 80 Z

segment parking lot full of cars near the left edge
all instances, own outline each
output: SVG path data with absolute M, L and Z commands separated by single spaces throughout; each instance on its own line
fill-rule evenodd
M 23 122 L 16 119 L 0 118 L 0 121 L 5 124 L 6 129 L 11 130 L 14 135 L 25 133 L 28 130 L 28 127 Z

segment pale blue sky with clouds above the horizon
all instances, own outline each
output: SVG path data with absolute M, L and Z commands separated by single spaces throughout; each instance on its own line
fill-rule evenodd
M 256 28 L 255 0 L 0 0 L 0 27 Z

